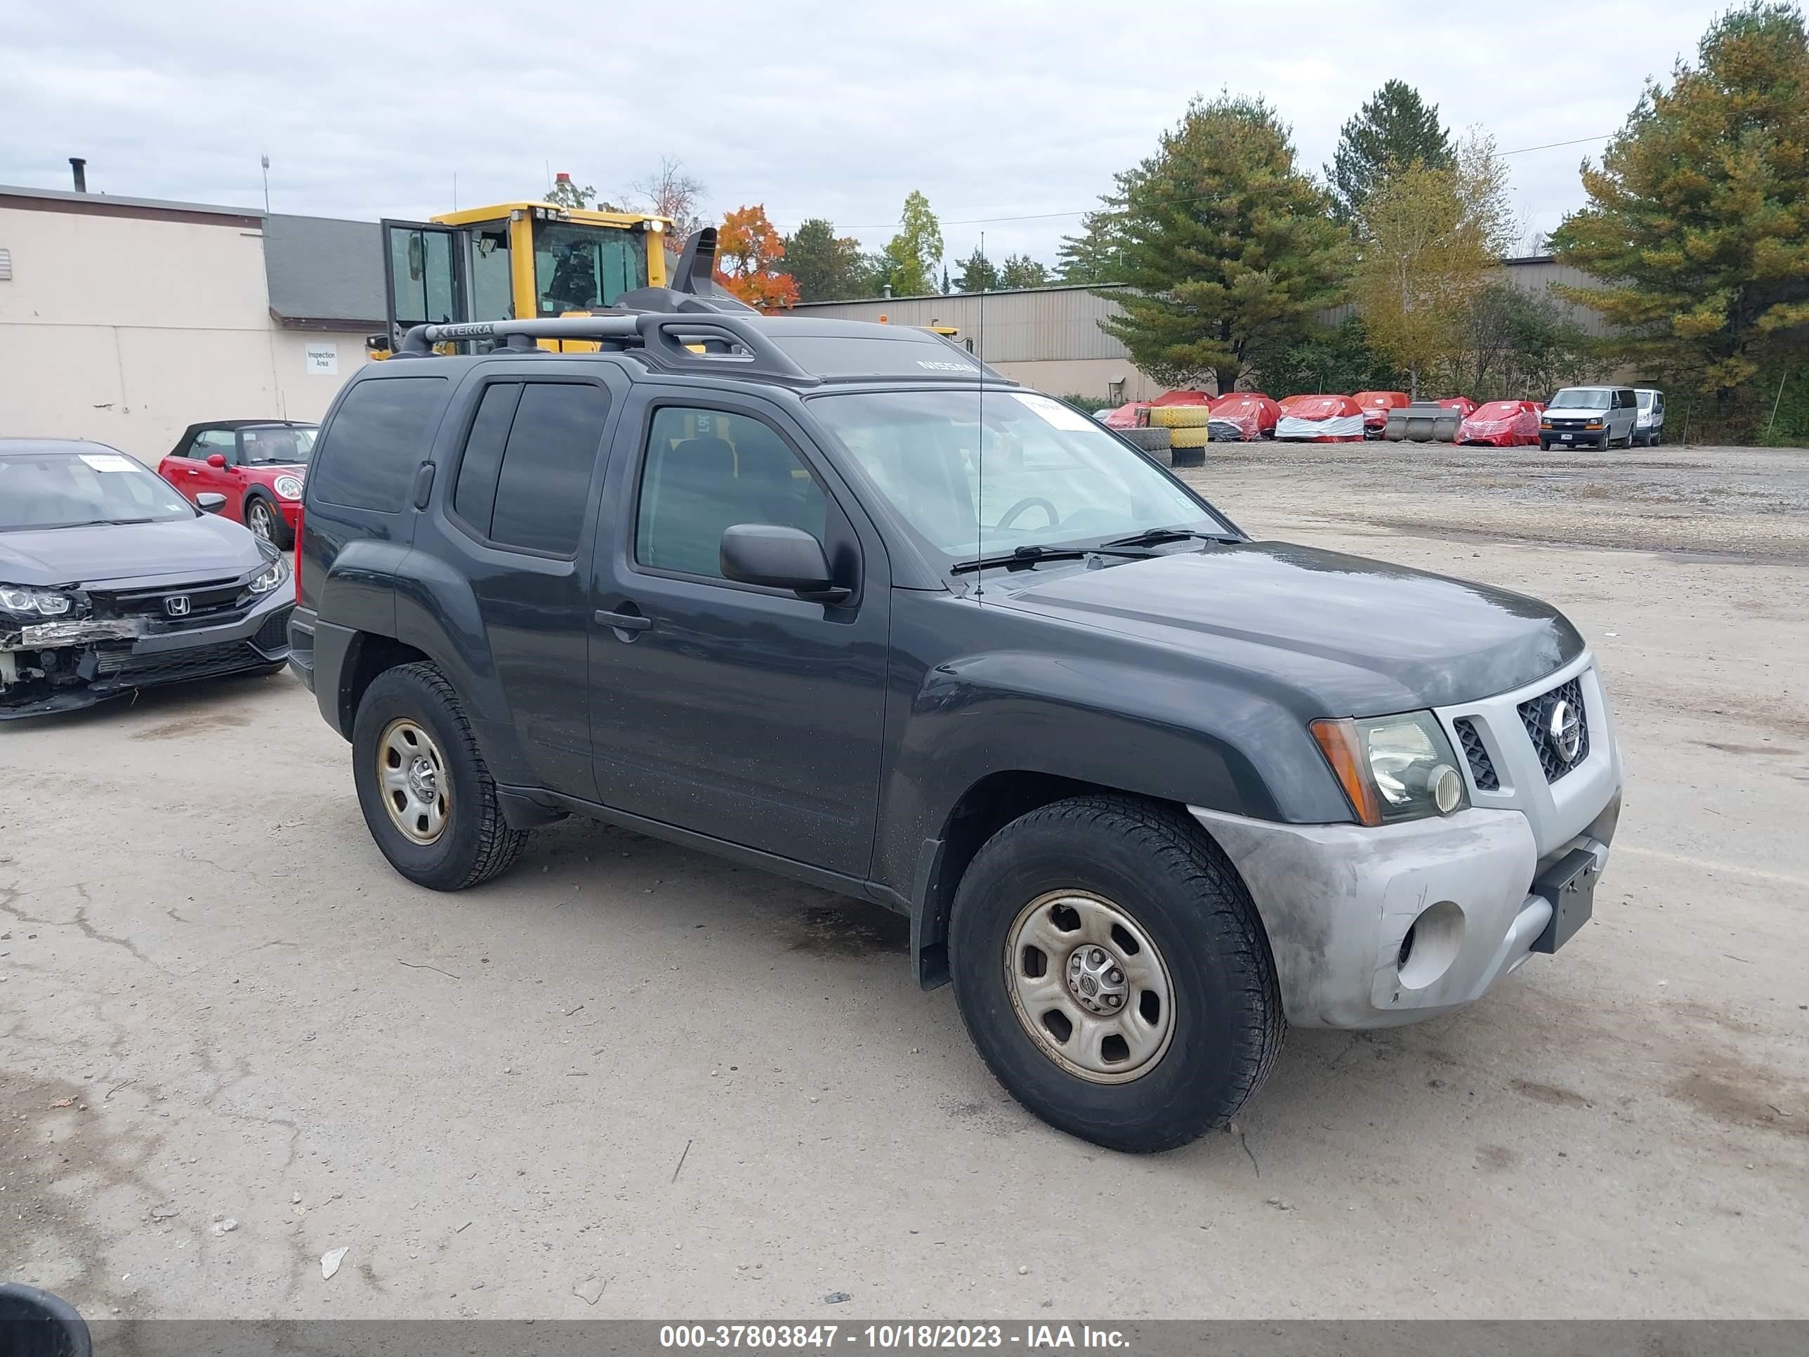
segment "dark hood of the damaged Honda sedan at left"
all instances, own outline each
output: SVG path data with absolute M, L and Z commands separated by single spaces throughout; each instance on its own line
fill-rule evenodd
M 172 523 L 0 532 L 0 581 L 103 588 L 136 579 L 223 579 L 264 559 L 241 523 L 201 514 Z

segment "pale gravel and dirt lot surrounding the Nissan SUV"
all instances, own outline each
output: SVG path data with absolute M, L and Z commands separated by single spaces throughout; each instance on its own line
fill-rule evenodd
M 1257 536 L 1592 639 L 1626 814 L 1556 957 L 1292 1033 L 1234 1133 L 1125 1158 L 991 1082 L 903 919 L 579 823 L 434 896 L 286 675 L 145 693 L 0 727 L 0 1276 L 90 1317 L 1809 1315 L 1809 452 L 1210 458 Z

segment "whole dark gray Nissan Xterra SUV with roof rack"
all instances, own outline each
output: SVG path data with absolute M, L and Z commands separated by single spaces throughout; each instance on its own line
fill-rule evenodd
M 624 304 L 418 327 L 326 418 L 291 662 L 411 881 L 577 812 L 876 901 L 1127 1151 L 1588 917 L 1621 764 L 1556 610 L 1250 541 L 924 331 Z

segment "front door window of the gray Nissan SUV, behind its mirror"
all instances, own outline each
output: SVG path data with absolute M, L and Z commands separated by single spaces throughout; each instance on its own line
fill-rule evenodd
M 722 579 L 722 534 L 736 523 L 803 528 L 818 541 L 829 499 L 778 431 L 751 414 L 666 405 L 640 461 L 635 561 Z

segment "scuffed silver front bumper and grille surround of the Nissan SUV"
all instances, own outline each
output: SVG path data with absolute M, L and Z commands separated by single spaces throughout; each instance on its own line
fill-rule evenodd
M 1547 783 L 1518 706 L 1570 678 L 1583 691 L 1590 751 Z M 1539 870 L 1572 849 L 1592 852 L 1597 870 L 1608 861 L 1621 758 L 1588 655 L 1525 689 L 1436 715 L 1447 733 L 1469 718 L 1494 762 L 1494 791 L 1480 791 L 1465 767 L 1467 811 L 1371 829 L 1190 807 L 1250 888 L 1295 1026 L 1382 1028 L 1474 1002 L 1532 955 L 1550 923 L 1550 903 L 1532 888 Z

